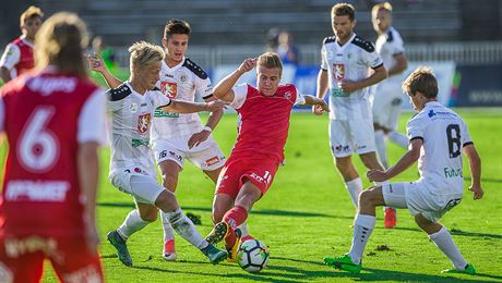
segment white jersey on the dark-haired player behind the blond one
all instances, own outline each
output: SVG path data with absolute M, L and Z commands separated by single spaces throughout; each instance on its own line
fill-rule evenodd
M 169 67 L 164 61 L 157 87 L 170 98 L 181 101 L 195 101 L 195 95 L 210 98 L 213 86 L 207 74 L 188 58 L 176 66 Z M 153 126 L 153 143 L 177 136 L 187 136 L 202 131 L 203 126 L 196 113 L 171 113 L 156 110 Z

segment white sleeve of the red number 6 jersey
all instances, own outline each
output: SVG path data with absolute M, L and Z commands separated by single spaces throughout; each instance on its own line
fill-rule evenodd
M 76 140 L 79 144 L 97 142 L 99 145 L 106 144 L 105 132 L 105 94 L 104 89 L 98 88 L 85 101 L 79 116 L 79 128 Z

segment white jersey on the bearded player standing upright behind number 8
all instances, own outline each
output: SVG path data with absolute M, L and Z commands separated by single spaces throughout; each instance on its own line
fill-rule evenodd
M 345 45 L 339 46 L 336 36 L 332 36 L 324 39 L 321 54 L 321 69 L 328 74 L 330 119 L 371 119 L 369 89 L 346 94 L 339 88 L 339 83 L 344 79 L 364 79 L 368 77 L 369 67 L 376 69 L 383 65 L 374 46 L 356 34 L 352 34 Z

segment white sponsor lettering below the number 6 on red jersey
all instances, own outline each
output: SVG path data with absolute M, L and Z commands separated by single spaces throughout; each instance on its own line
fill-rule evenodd
M 61 202 L 67 198 L 70 183 L 67 181 L 15 180 L 7 184 L 5 200 Z

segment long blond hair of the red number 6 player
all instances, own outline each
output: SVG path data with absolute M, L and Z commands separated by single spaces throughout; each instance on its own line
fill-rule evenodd
M 40 26 L 35 37 L 36 66 L 55 65 L 62 73 L 87 76 L 83 57 L 87 44 L 85 23 L 74 13 L 57 13 Z

